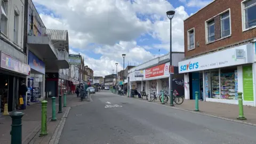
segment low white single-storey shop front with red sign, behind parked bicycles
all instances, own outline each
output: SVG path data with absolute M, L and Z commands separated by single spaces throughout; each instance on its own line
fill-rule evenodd
M 130 73 L 130 87 L 132 87 L 132 83 L 135 82 L 137 91 L 145 91 L 148 93 L 150 90 L 150 93 L 156 93 L 157 96 L 161 93 L 161 90 L 169 93 L 169 66 L 170 63 L 166 62 L 144 70 L 138 70 Z M 178 67 L 174 67 L 172 90 L 176 94 L 184 95 L 183 78 L 183 74 L 178 74 Z

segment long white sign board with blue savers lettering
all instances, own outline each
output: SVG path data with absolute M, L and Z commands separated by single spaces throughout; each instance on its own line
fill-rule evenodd
M 236 46 L 231 49 L 206 54 L 201 57 L 179 62 L 179 73 L 189 73 L 253 63 L 253 44 Z

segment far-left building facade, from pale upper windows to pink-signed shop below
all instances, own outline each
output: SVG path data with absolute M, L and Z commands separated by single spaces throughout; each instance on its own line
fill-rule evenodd
M 30 75 L 28 49 L 23 37 L 24 1 L 1 1 L 0 111 L 19 109 L 19 85 Z M 24 98 L 24 96 L 23 96 Z M 25 100 L 26 102 L 26 97 Z M 24 107 L 23 107 L 24 109 Z

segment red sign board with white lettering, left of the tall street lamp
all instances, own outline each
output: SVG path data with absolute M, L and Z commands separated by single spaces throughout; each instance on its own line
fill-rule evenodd
M 168 75 L 169 66 L 169 63 L 163 63 L 162 65 L 145 69 L 145 78 Z

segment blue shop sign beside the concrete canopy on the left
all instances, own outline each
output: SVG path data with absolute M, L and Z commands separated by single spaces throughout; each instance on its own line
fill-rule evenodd
M 28 52 L 28 65 L 31 69 L 38 71 L 39 73 L 45 74 L 45 63 L 38 59 L 35 54 Z

